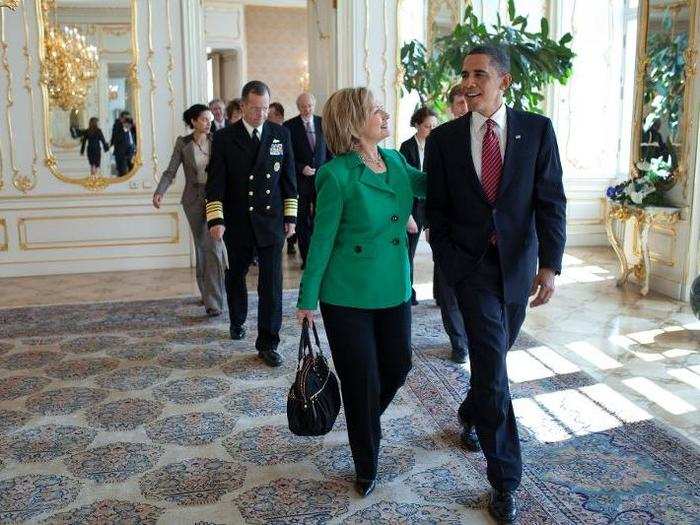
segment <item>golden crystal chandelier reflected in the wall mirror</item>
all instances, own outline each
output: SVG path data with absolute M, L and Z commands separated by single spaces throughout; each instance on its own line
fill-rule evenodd
M 82 108 L 90 86 L 97 78 L 100 64 L 97 48 L 88 45 L 76 28 L 50 21 L 56 0 L 42 0 L 44 12 L 43 81 L 52 106 L 63 110 Z

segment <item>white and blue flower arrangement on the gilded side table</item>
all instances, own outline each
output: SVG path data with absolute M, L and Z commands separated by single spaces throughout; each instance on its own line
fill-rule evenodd
M 672 173 L 671 158 L 656 157 L 635 164 L 640 175 L 616 186 L 610 186 L 606 196 L 613 202 L 632 206 L 661 206 L 663 192 L 658 185 L 666 181 Z

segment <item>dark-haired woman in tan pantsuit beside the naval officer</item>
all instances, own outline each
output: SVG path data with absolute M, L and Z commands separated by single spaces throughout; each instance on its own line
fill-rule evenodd
M 194 240 L 197 286 L 209 316 L 220 315 L 226 304 L 224 297 L 224 272 L 226 248 L 223 241 L 214 241 L 209 235 L 204 213 L 204 185 L 207 182 L 206 168 L 211 152 L 211 123 L 214 120 L 209 108 L 195 104 L 182 115 L 192 133 L 177 138 L 170 164 L 163 172 L 153 194 L 153 206 L 160 208 L 163 196 L 173 183 L 182 164 L 185 172 L 185 190 L 182 192 L 182 207 L 190 224 Z

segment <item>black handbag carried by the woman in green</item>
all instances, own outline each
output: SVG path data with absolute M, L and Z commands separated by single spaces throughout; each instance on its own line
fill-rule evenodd
M 311 345 L 309 323 L 304 320 L 299 340 L 299 365 L 287 398 L 289 430 L 297 436 L 322 436 L 333 429 L 340 412 L 338 379 L 328 366 L 312 325 L 316 350 Z

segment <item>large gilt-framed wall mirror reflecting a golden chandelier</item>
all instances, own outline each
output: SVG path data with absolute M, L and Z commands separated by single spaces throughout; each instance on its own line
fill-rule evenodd
M 141 165 L 135 0 L 36 0 L 46 164 L 101 190 Z

